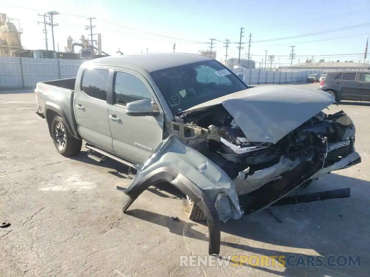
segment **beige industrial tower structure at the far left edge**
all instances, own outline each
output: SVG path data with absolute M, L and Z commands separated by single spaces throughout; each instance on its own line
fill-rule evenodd
M 7 18 L 5 13 L 0 13 L 0 57 L 11 57 L 15 52 L 23 50 L 21 44 L 23 30 L 20 26 L 17 29 L 13 20 L 18 19 Z

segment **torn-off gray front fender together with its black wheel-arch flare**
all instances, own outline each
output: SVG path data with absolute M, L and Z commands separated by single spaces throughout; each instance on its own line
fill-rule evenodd
M 121 189 L 124 192 L 123 211 L 145 189 L 160 181 L 171 183 L 199 206 L 208 222 L 209 253 L 218 254 L 219 220 L 226 222 L 242 216 L 230 177 L 180 138 L 170 135 L 148 158 L 129 188 Z

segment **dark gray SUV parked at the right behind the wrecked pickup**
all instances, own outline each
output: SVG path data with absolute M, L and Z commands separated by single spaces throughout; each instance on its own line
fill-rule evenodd
M 320 90 L 340 100 L 370 101 L 370 71 L 334 71 L 328 72 L 320 82 Z

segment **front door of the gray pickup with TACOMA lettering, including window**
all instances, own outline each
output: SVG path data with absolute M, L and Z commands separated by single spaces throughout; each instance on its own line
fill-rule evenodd
M 148 81 L 135 71 L 116 71 L 113 82 L 113 105 L 108 118 L 114 153 L 137 164 L 144 164 L 163 140 L 164 114 L 159 116 L 129 116 L 126 104 L 148 99 L 154 103 Z M 157 105 L 153 105 L 156 107 Z

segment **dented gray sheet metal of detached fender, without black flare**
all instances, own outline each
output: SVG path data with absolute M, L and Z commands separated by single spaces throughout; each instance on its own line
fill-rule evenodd
M 215 163 L 174 135 L 170 135 L 158 146 L 130 187 L 162 167 L 173 168 L 198 186 L 216 206 L 221 221 L 239 219 L 242 216 L 235 185 L 230 177 Z M 225 196 L 228 200 L 225 200 Z

